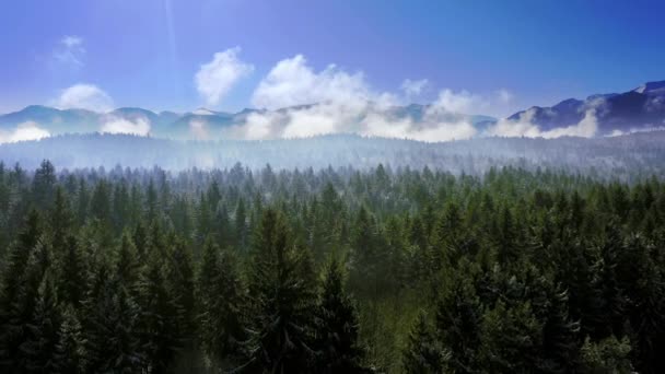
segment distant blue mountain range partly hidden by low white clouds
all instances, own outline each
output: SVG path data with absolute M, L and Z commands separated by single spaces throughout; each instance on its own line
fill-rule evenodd
M 139 135 L 158 138 L 199 139 L 197 126 L 205 126 L 207 135 L 220 135 L 223 129 L 243 126 L 253 115 L 271 115 L 292 113 L 313 107 L 304 105 L 277 110 L 246 108 L 238 113 L 215 112 L 199 108 L 188 113 L 154 113 L 139 107 L 122 107 L 108 113 L 96 113 L 86 109 L 58 109 L 43 105 L 31 105 L 22 110 L 0 115 L 0 131 L 11 131 L 22 124 L 33 124 L 49 135 L 89 133 L 89 132 L 125 132 L 127 126 Z M 411 104 L 377 108 L 368 105 L 352 120 L 380 114 L 394 122 L 409 120 L 418 125 L 425 120 L 431 105 Z M 646 129 L 665 127 L 665 81 L 649 82 L 625 93 L 594 94 L 585 100 L 568 98 L 551 107 L 534 106 L 517 112 L 501 121 L 523 122 L 537 126 L 542 131 L 575 126 L 583 121 L 590 110 L 597 121 L 595 135 L 619 135 Z M 482 133 L 497 124 L 498 119 L 482 115 L 455 113 L 438 114 L 438 120 L 467 121 Z M 443 116 L 443 117 L 442 117 Z M 143 125 L 143 126 L 139 126 Z M 136 128 L 135 128 L 136 127 Z M 219 136 L 206 139 L 218 139 Z

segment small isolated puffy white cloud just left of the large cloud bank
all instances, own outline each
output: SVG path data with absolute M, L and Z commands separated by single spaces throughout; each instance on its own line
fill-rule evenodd
M 208 105 L 219 104 L 241 78 L 254 70 L 237 57 L 240 52 L 240 47 L 217 52 L 212 61 L 201 65 L 196 73 L 196 87 Z

